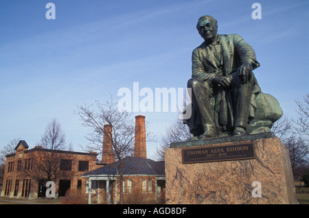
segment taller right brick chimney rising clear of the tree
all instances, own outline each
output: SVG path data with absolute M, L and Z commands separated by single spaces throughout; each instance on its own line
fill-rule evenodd
M 134 156 L 135 158 L 147 158 L 145 116 L 143 115 L 135 117 Z

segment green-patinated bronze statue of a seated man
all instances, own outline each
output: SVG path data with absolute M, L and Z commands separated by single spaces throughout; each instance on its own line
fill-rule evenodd
M 262 132 L 270 131 L 282 115 L 277 100 L 271 96 L 261 101 L 259 112 L 263 117 L 265 104 L 274 104 L 276 111 L 267 115 L 270 123 L 251 123 L 253 127 L 248 128 L 256 118 L 256 98 L 261 94 L 253 74 L 260 66 L 253 48 L 238 34 L 217 34 L 217 21 L 212 16 L 202 16 L 196 28 L 205 41 L 192 52 L 192 78 L 187 82 L 187 88 L 192 90 L 192 115 L 185 120 L 190 132 L 198 138 L 210 138 L 240 136 L 265 126 Z

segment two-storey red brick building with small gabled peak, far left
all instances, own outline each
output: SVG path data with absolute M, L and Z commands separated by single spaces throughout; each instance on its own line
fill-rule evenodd
M 80 189 L 86 193 L 87 180 L 81 175 L 101 167 L 96 164 L 95 152 L 68 152 L 39 146 L 28 148 L 27 143 L 21 140 L 15 147 L 16 152 L 6 155 L 1 196 L 28 199 L 45 197 L 47 180 L 55 182 L 56 197 L 65 196 L 68 189 Z

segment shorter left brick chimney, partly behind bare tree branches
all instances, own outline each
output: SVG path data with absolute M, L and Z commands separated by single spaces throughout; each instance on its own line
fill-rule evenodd
M 105 124 L 103 134 L 102 163 L 109 165 L 112 162 L 115 162 L 115 155 L 113 154 L 112 128 L 110 124 Z

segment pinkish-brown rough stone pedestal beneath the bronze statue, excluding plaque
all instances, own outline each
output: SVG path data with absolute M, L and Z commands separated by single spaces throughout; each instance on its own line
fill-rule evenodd
M 165 149 L 166 204 L 297 204 L 290 156 L 279 138 L 210 145 L 194 141 L 190 149 L 237 143 L 253 143 L 255 158 L 183 164 L 183 143 Z

